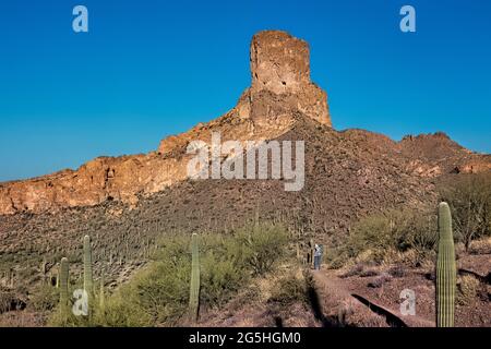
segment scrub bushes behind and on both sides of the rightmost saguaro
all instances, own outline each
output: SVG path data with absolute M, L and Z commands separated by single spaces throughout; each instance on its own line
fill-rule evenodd
M 466 250 L 472 241 L 491 236 L 491 176 L 459 177 L 440 188 L 440 197 L 448 203 L 456 242 Z M 434 258 L 436 242 L 434 209 L 390 209 L 354 222 L 350 233 L 328 251 L 327 261 L 332 267 L 347 261 L 419 265 Z

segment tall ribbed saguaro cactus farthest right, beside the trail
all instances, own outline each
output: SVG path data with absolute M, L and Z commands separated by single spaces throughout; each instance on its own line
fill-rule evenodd
M 439 251 L 436 262 L 436 326 L 453 327 L 455 311 L 455 249 L 452 216 L 447 203 L 439 206 Z

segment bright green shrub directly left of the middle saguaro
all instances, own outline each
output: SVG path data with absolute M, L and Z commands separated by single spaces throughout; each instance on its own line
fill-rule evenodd
M 97 312 L 97 325 L 149 326 L 172 324 L 189 301 L 190 237 L 168 237 L 153 263 L 120 287 Z

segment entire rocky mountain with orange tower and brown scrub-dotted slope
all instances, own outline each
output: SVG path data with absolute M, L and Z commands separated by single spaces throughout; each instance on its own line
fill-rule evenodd
M 170 230 L 227 232 L 268 219 L 328 241 L 370 212 L 434 201 L 444 178 L 491 169 L 490 155 L 442 133 L 394 142 L 363 130 L 335 131 L 326 94 L 310 81 L 308 45 L 286 33 L 253 37 L 251 73 L 252 85 L 232 110 L 161 141 L 156 152 L 0 184 L 2 282 L 34 282 L 62 255 L 76 261 L 85 233 L 95 243 L 96 275 L 104 269 L 113 285 Z M 212 132 L 221 141 L 304 141 L 303 190 L 286 192 L 283 180 L 189 179 L 187 146 L 208 142 Z

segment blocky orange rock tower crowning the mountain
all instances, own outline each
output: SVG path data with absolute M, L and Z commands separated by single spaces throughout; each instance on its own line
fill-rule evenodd
M 239 101 L 241 118 L 261 127 L 298 110 L 332 125 L 327 95 L 310 80 L 306 41 L 285 32 L 261 32 L 252 38 L 250 59 L 252 85 Z

